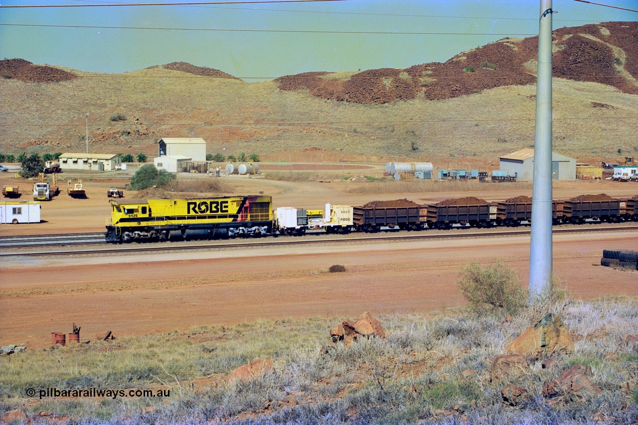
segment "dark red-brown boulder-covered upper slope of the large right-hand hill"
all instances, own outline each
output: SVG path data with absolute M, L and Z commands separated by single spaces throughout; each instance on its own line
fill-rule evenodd
M 602 82 L 638 94 L 638 22 L 606 22 L 554 31 L 554 77 Z M 504 38 L 458 54 L 445 63 L 404 70 L 382 68 L 350 78 L 309 72 L 278 78 L 281 90 L 308 89 L 318 98 L 353 103 L 443 100 L 501 86 L 535 82 L 538 37 Z M 634 58 L 633 60 L 630 58 Z

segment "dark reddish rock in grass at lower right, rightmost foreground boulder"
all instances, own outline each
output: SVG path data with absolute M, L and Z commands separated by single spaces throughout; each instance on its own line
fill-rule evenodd
M 545 398 L 562 398 L 565 402 L 591 400 L 602 393 L 602 390 L 586 374 L 591 374 L 590 366 L 572 366 L 558 378 L 543 385 L 542 394 Z

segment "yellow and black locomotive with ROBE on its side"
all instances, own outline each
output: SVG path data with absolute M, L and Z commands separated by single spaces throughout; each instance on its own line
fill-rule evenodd
M 215 235 L 248 236 L 272 232 L 272 197 L 249 195 L 196 199 L 110 200 L 107 242 L 168 239 L 188 230 Z

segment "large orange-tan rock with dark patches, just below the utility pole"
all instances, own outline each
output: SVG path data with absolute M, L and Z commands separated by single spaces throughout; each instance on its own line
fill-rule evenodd
M 560 317 L 549 313 L 505 347 L 507 353 L 531 355 L 574 352 L 574 341 Z

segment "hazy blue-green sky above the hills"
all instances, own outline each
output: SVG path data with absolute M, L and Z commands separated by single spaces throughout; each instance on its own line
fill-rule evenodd
M 0 0 L 0 58 L 100 73 L 183 61 L 247 81 L 307 71 L 407 68 L 444 62 L 506 36 L 536 35 L 540 10 L 540 0 L 1 7 L 119 3 L 127 2 Z M 638 9 L 636 0 L 596 3 Z M 638 20 L 636 12 L 575 0 L 554 0 L 553 10 L 554 29 Z

